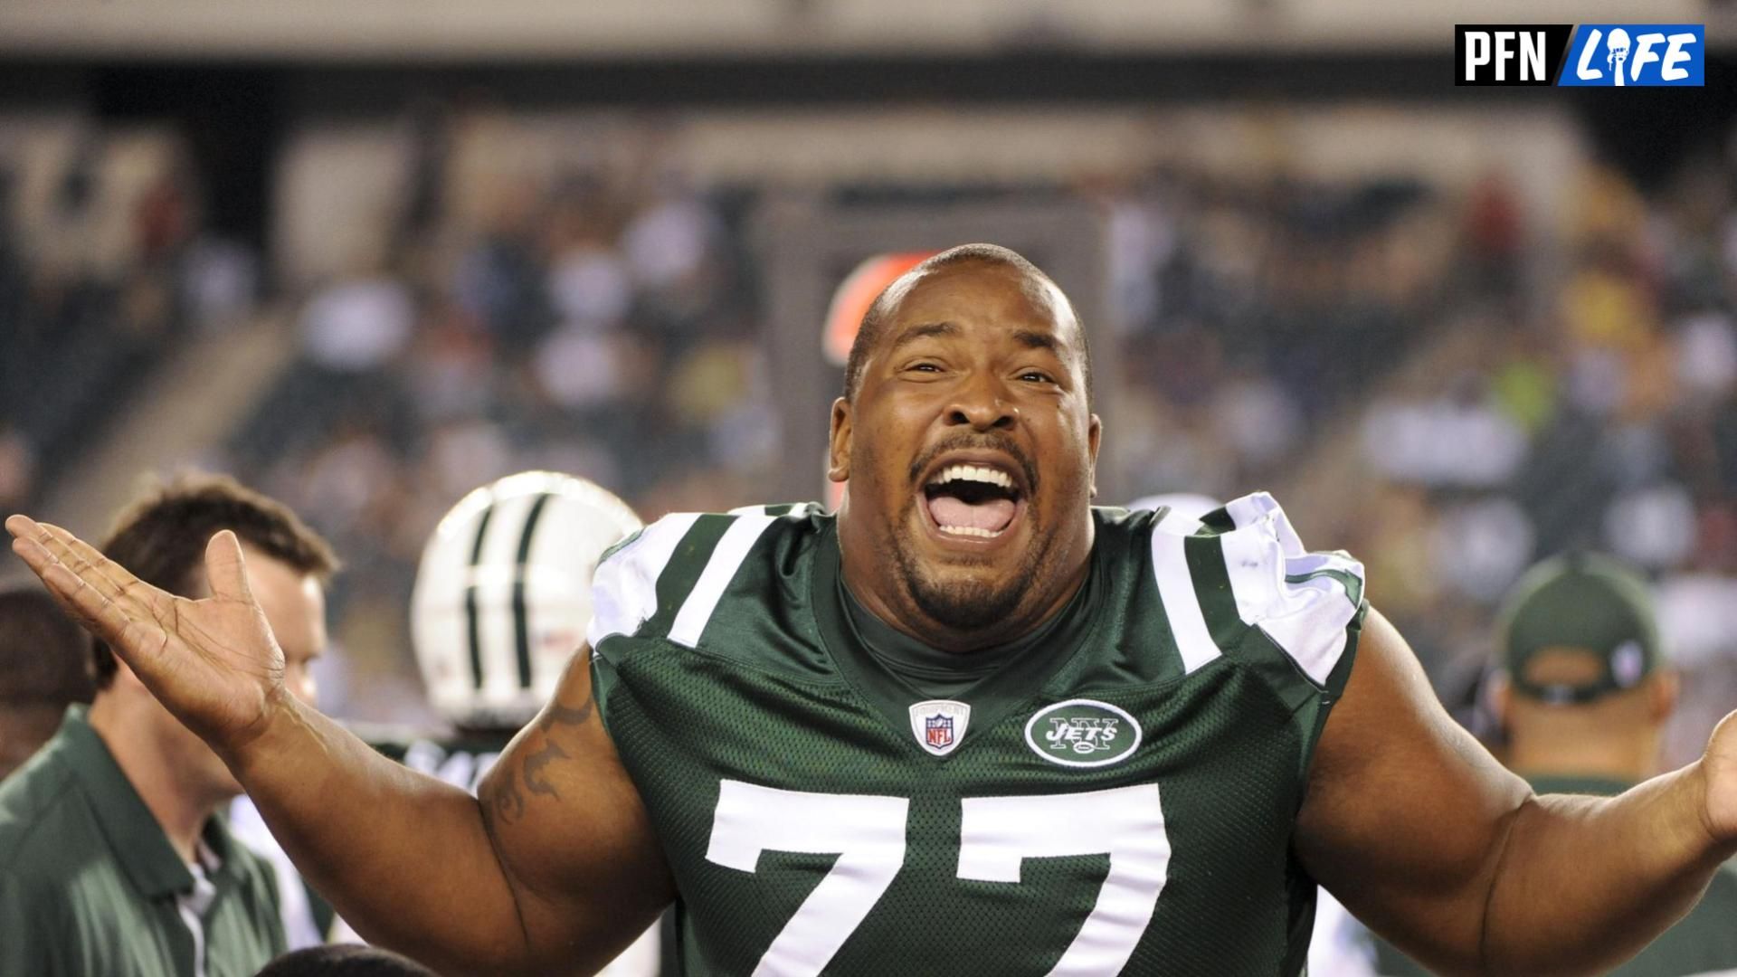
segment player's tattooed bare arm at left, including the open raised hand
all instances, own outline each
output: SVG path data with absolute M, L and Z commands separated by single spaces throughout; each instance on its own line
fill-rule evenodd
M 591 701 L 587 654 L 507 748 L 485 800 L 413 774 L 283 690 L 240 546 L 212 596 L 134 579 L 54 527 L 17 551 L 247 788 L 297 867 L 370 940 L 452 972 L 589 972 L 670 899 L 650 824 Z

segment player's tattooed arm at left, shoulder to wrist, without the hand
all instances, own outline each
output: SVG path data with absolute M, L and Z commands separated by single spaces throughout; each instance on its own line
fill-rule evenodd
M 481 801 L 314 709 L 229 760 L 295 866 L 370 942 L 455 972 L 591 974 L 674 895 L 591 701 L 589 652 Z

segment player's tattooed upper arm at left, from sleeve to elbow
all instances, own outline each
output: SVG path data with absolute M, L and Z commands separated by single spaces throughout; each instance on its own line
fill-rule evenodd
M 601 967 L 674 897 L 650 817 L 598 714 L 589 648 L 502 753 L 479 801 L 526 944 Z

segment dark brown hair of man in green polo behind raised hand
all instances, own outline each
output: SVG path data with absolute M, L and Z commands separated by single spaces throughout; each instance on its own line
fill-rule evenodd
M 241 546 L 320 582 L 339 568 L 332 546 L 288 506 L 226 475 L 177 475 L 146 492 L 120 513 L 97 549 L 155 588 L 193 596 L 205 581 L 205 544 L 226 528 Z M 108 688 L 115 652 L 102 641 L 96 641 L 94 664 L 97 688 Z

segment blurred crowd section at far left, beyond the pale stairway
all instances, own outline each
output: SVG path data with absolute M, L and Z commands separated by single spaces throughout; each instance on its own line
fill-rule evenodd
M 33 151 L 43 137 L 59 151 Z M 167 132 L 10 118 L 0 143 L 0 502 L 17 506 L 198 318 L 212 242 Z

